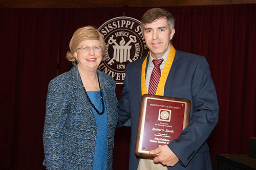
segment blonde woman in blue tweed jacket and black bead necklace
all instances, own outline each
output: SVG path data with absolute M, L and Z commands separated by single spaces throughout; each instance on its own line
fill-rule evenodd
M 116 84 L 97 69 L 105 48 L 97 29 L 78 29 L 66 56 L 73 68 L 49 83 L 43 133 L 47 168 L 112 169 Z

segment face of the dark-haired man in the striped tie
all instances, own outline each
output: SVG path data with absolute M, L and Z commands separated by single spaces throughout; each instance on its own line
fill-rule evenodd
M 144 25 L 145 42 L 153 58 L 160 58 L 167 52 L 174 33 L 175 29 L 169 30 L 167 19 L 165 18 L 159 18 L 152 23 Z

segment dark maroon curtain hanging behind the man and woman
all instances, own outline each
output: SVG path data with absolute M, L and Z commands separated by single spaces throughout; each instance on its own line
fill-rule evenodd
M 256 136 L 256 4 L 163 8 L 176 18 L 175 48 L 210 66 L 220 106 L 207 140 L 212 161 L 217 153 L 248 154 Z M 65 56 L 74 31 L 118 16 L 140 20 L 147 9 L 0 9 L 0 169 L 45 169 L 47 87 L 72 67 Z M 130 128 L 117 129 L 114 169 L 127 169 L 129 145 Z

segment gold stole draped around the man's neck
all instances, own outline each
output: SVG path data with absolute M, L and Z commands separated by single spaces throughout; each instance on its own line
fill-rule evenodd
M 159 80 L 159 84 L 157 86 L 156 95 L 163 95 L 164 85 L 165 85 L 165 82 L 167 80 L 167 77 L 168 77 L 168 74 L 169 74 L 169 71 L 170 71 L 170 67 L 172 67 L 172 64 L 173 64 L 175 52 L 176 52 L 175 48 L 171 44 L 170 51 L 169 51 L 169 54 L 168 54 L 167 59 L 166 59 L 166 63 L 164 64 L 163 71 L 162 71 L 162 74 L 161 74 L 161 77 L 160 77 L 160 80 Z M 148 54 L 149 53 L 150 52 L 148 52 Z M 142 63 L 142 69 L 141 69 L 141 95 L 147 94 L 145 70 L 146 70 L 146 65 L 147 65 L 146 61 L 147 61 L 148 54 L 147 54 L 145 60 Z

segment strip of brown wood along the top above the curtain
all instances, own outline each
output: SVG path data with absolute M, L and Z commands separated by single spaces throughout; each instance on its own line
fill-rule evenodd
M 256 0 L 0 0 L 0 8 L 172 7 L 250 3 L 256 3 Z

